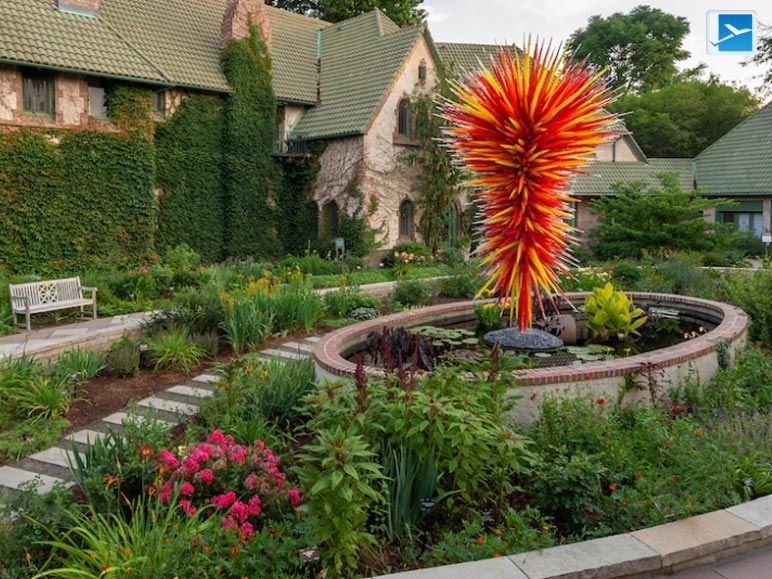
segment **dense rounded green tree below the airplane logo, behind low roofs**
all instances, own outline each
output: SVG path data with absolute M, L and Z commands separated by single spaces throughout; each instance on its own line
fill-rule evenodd
M 650 157 L 694 157 L 751 113 L 758 102 L 747 88 L 711 77 L 679 80 L 657 91 L 628 94 L 610 107 Z

